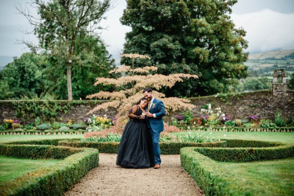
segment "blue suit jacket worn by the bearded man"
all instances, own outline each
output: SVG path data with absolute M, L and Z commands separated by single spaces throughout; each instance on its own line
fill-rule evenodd
M 146 107 L 146 109 L 148 106 Z M 166 115 L 164 104 L 161 100 L 154 98 L 152 105 L 150 105 L 149 112 L 156 115 L 156 118 L 146 118 L 146 122 L 150 123 L 150 126 L 155 133 L 162 132 L 164 130 L 162 117 Z

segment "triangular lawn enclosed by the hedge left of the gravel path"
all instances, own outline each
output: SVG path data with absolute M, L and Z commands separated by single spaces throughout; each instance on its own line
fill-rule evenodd
M 24 175 L 57 164 L 62 160 L 56 159 L 19 159 L 0 155 L 0 185 Z

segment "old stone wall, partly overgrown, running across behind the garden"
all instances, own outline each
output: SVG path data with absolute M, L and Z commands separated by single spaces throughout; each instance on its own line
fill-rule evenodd
M 226 116 L 230 116 L 231 119 L 248 119 L 250 115 L 257 115 L 261 119 L 274 119 L 274 115 L 277 112 L 282 114 L 288 119 L 294 119 L 294 91 L 287 90 L 285 96 L 273 96 L 271 90 L 255 91 L 249 93 L 238 93 L 190 98 L 192 103 L 196 106 L 193 109 L 195 117 L 199 117 L 201 106 L 211 103 L 212 107 L 221 107 L 221 110 Z M 0 101 L 0 121 L 4 119 L 17 119 L 15 117 L 15 109 L 13 109 L 14 101 Z M 42 101 L 40 101 L 41 104 Z M 57 101 L 66 103 L 68 101 Z M 101 104 L 103 101 L 78 101 L 73 104 L 73 109 L 67 112 L 59 111 L 56 117 L 56 121 L 68 122 L 73 119 L 75 122 L 82 122 L 86 118 L 86 114 L 95 107 L 97 104 Z M 185 111 L 170 112 L 169 116 L 165 117 L 164 121 L 171 121 L 172 117 L 184 114 Z M 116 110 L 110 108 L 108 111 L 97 111 L 94 114 L 97 116 L 103 116 L 106 114 L 108 118 L 112 119 L 116 115 Z M 34 117 L 30 117 L 30 114 L 26 115 L 27 122 L 34 122 Z

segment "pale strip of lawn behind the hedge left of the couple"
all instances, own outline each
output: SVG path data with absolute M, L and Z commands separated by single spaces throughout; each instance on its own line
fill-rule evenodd
M 77 135 L 0 135 L 1 142 L 44 140 L 44 139 L 81 139 L 83 134 Z

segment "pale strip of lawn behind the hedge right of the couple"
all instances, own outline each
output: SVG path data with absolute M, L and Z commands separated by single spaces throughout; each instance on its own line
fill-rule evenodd
M 188 134 L 189 132 L 172 133 L 173 136 L 177 134 Z M 239 140 L 261 140 L 270 142 L 282 142 L 294 144 L 294 133 L 293 132 L 210 132 L 205 131 L 191 131 L 190 135 L 205 134 L 211 139 L 239 139 Z

